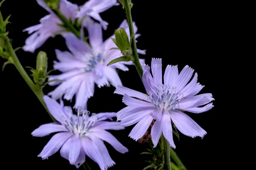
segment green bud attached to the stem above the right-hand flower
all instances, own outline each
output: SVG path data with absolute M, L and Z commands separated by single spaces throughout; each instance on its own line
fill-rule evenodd
M 129 42 L 128 35 L 126 34 L 126 31 L 124 28 L 118 28 L 115 31 L 115 37 L 116 37 L 116 46 L 121 50 L 129 50 L 131 45 Z

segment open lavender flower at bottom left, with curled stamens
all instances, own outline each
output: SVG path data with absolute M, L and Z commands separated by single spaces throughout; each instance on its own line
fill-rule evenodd
M 84 163 L 87 155 L 99 164 L 101 170 L 106 170 L 115 162 L 103 141 L 111 144 L 120 153 L 128 152 L 126 147 L 106 131 L 124 129 L 119 122 L 105 121 L 112 120 L 115 113 L 93 113 L 89 116 L 90 112 L 79 110 L 75 115 L 70 107 L 64 106 L 63 103 L 59 104 L 49 96 L 44 96 L 44 102 L 59 123 L 41 125 L 32 132 L 32 136 L 43 137 L 50 133 L 58 133 L 52 136 L 38 157 L 48 159 L 61 148 L 61 156 L 77 168 Z

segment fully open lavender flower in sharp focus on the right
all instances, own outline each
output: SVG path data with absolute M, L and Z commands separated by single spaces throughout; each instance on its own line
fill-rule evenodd
M 148 95 L 125 87 L 118 87 L 114 93 L 122 94 L 126 108 L 116 113 L 121 125 L 130 126 L 135 123 L 129 136 L 135 140 L 140 139 L 156 119 L 152 129 L 151 138 L 156 147 L 161 134 L 175 148 L 172 138 L 172 122 L 178 130 L 186 136 L 203 137 L 206 131 L 182 111 L 201 113 L 213 107 L 212 94 L 198 94 L 204 87 L 197 83 L 198 74 L 186 65 L 178 72 L 177 65 L 168 65 L 162 82 L 162 60 L 152 59 L 151 71 L 148 65 L 143 65 L 143 84 Z M 136 97 L 136 98 L 134 98 Z M 205 105 L 203 107 L 199 107 Z

